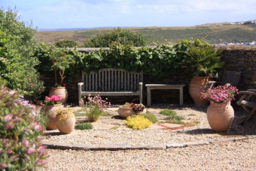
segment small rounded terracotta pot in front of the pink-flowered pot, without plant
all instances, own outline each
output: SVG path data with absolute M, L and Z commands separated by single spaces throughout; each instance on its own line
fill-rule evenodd
M 69 134 L 74 129 L 76 117 L 74 116 L 72 110 L 64 110 L 61 113 L 57 113 L 55 121 L 57 128 L 61 133 Z

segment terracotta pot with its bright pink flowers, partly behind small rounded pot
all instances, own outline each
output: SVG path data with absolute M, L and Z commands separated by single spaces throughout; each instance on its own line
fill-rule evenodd
M 41 103 L 41 112 L 48 115 L 49 121 L 46 126 L 47 130 L 57 129 L 55 118 L 57 115 L 56 110 L 62 108 L 60 96 L 45 97 L 45 101 Z

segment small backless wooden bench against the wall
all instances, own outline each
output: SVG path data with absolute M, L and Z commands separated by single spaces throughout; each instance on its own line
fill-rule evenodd
M 172 85 L 172 84 L 146 84 L 147 87 L 147 100 L 148 100 L 148 107 L 151 106 L 151 90 L 154 89 L 178 89 L 180 93 L 180 106 L 183 105 L 183 87 L 182 85 Z

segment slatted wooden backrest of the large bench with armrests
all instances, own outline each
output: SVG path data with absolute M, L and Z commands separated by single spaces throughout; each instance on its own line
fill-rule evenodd
M 90 74 L 82 71 L 82 91 L 121 92 L 139 91 L 139 82 L 143 82 L 143 71 L 128 72 L 124 69 L 106 68 Z

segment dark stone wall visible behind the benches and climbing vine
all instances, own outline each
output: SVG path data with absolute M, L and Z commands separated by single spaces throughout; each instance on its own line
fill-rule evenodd
M 221 55 L 222 60 L 225 61 L 225 66 L 222 70 L 241 71 L 241 79 L 239 81 L 238 89 L 246 90 L 249 88 L 256 88 L 254 82 L 256 81 L 256 46 L 220 46 L 223 49 Z M 83 53 L 88 53 L 90 50 L 97 49 L 77 49 Z M 54 85 L 53 75 L 42 75 L 42 80 L 45 82 L 45 92 L 43 96 L 48 96 L 50 86 Z M 187 74 L 180 75 L 166 75 L 162 79 L 153 79 L 144 75 L 143 81 L 143 104 L 147 104 L 147 88 L 145 84 L 148 83 L 184 83 L 183 89 L 183 101 L 184 104 L 193 104 L 193 100 L 188 93 L 188 84 L 192 78 Z M 66 88 L 69 92 L 68 102 L 72 104 L 78 104 L 78 86 L 77 83 L 81 82 L 81 72 L 74 78 L 70 79 L 68 76 L 64 82 L 67 84 Z M 152 104 L 168 103 L 179 104 L 179 90 L 152 90 Z M 123 104 L 124 102 L 131 102 L 136 96 L 118 97 L 109 96 L 108 101 L 112 104 Z M 135 101 L 139 102 L 139 101 Z

